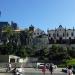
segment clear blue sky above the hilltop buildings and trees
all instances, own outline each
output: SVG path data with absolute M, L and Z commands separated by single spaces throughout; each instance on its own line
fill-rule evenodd
M 75 27 L 75 0 L 0 0 L 0 21 L 47 29 Z

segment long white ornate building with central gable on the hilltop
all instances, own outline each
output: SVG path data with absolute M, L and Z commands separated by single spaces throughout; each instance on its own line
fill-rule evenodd
M 60 25 L 55 30 L 47 30 L 49 44 L 75 44 L 75 29 L 66 29 Z

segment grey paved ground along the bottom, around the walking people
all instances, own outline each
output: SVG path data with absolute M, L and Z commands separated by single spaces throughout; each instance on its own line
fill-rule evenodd
M 0 73 L 0 75 L 13 75 L 13 73 Z M 41 69 L 36 68 L 23 68 L 23 75 L 43 75 Z M 50 72 L 46 70 L 45 75 L 50 75 Z M 62 72 L 62 68 L 57 68 L 54 70 L 53 75 L 67 75 Z M 75 74 L 74 74 L 75 75 Z

